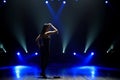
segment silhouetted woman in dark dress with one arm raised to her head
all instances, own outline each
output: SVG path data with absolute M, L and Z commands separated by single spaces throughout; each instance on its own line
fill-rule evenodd
M 52 30 L 51 30 L 52 29 Z M 51 23 L 45 23 L 41 30 L 41 33 L 37 36 L 36 42 L 38 47 L 40 48 L 40 61 L 41 61 L 41 73 L 40 76 L 46 78 L 46 68 L 49 63 L 49 55 L 50 55 L 50 39 L 51 34 L 58 33 L 58 29 L 53 26 Z

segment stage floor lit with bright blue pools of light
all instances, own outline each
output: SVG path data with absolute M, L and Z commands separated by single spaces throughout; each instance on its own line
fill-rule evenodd
M 120 80 L 120 69 L 102 66 L 51 64 L 47 68 L 49 78 L 42 79 L 39 73 L 40 68 L 34 65 L 2 66 L 0 80 Z

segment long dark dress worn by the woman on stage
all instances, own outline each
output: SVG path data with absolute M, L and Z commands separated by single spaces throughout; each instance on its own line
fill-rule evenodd
M 40 47 L 41 73 L 45 74 L 45 70 L 48 66 L 50 56 L 50 36 L 43 35 L 41 41 L 43 45 Z

